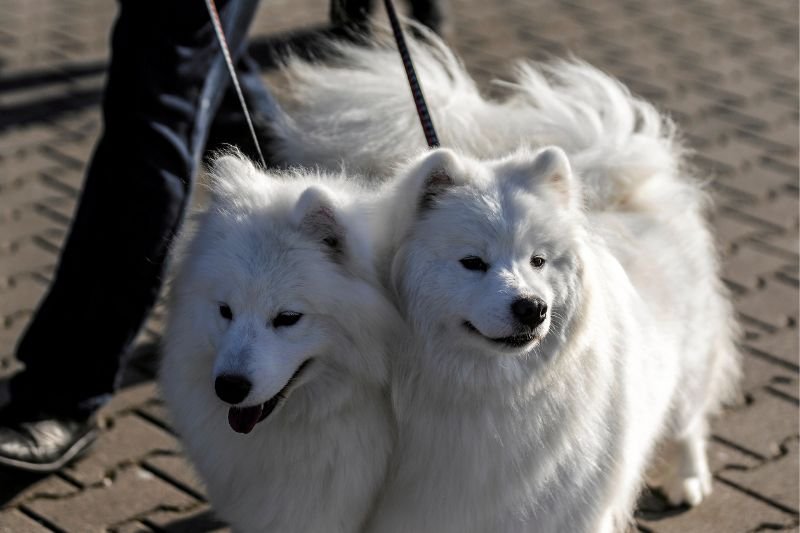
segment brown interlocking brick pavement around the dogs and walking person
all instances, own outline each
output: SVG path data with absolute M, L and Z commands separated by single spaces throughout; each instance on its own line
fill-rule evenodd
M 264 4 L 256 49 L 327 12 L 324 0 Z M 18 369 L 14 344 L 52 275 L 98 135 L 114 9 L 99 0 L 2 3 L 0 378 Z M 694 164 L 716 176 L 713 222 L 744 329 L 743 394 L 714 425 L 713 496 L 686 511 L 646 494 L 638 529 L 797 531 L 797 3 L 453 0 L 451 11 L 449 39 L 482 82 L 507 72 L 509 58 L 574 52 L 670 112 Z M 161 316 L 103 410 L 92 453 L 45 478 L 0 472 L 0 531 L 225 530 L 151 381 Z

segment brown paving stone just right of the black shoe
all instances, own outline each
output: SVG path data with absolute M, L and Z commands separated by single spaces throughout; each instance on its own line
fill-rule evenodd
M 113 420 L 92 448 L 92 453 L 64 470 L 64 475 L 83 486 L 103 482 L 114 470 L 134 463 L 148 454 L 180 450 L 177 440 L 137 415 Z

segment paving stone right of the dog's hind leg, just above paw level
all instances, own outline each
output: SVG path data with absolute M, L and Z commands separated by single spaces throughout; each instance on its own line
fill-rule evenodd
M 712 433 L 764 459 L 781 455 L 781 444 L 797 435 L 797 405 L 767 392 L 752 394 L 752 403 L 729 409 L 712 423 Z

